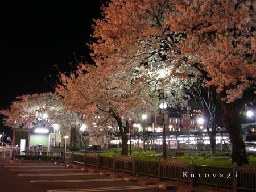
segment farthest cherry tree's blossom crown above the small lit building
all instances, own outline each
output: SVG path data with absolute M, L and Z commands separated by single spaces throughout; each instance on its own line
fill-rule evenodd
M 57 123 L 61 132 L 65 133 L 82 123 L 78 114 L 66 110 L 56 93 L 22 95 L 11 103 L 9 109 L 0 113 L 6 116 L 3 119 L 6 126 L 24 129 L 53 127 Z

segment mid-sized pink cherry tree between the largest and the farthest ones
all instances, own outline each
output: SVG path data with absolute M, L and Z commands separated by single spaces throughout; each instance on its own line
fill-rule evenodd
M 121 134 L 122 155 L 128 153 L 129 120 L 154 106 L 143 79 L 133 80 L 131 73 L 114 65 L 80 64 L 76 73 L 61 74 L 56 88 L 70 110 L 84 114 L 90 135 Z

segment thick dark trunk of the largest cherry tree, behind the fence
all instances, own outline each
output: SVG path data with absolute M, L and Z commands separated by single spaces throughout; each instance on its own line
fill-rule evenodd
M 226 103 L 222 100 L 224 97 L 223 91 L 218 93 L 217 97 L 224 114 L 222 123 L 224 124 L 226 131 L 228 131 L 232 143 L 232 162 L 236 162 L 239 166 L 248 164 L 249 161 L 247 160 L 245 143 L 243 142 L 241 134 L 240 117 L 236 110 L 235 103 Z

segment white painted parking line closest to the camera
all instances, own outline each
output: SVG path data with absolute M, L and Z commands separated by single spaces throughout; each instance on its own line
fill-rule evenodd
M 47 192 L 94 192 L 94 191 L 119 191 L 119 190 L 134 190 L 134 189 L 150 189 L 155 188 L 155 185 L 142 185 L 142 186 L 123 186 L 123 187 L 102 187 L 91 189 L 56 189 L 47 190 Z

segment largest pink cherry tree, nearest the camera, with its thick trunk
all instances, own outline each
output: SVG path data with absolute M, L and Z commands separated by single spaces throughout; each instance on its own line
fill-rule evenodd
M 233 162 L 246 164 L 239 119 L 255 99 L 255 1 L 119 0 L 103 7 L 102 16 L 89 44 L 96 64 L 132 67 L 144 77 L 168 70 L 170 89 L 173 78 L 183 79 L 182 86 L 201 78 L 216 91 Z M 251 98 L 238 111 L 245 91 Z

